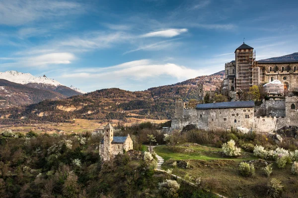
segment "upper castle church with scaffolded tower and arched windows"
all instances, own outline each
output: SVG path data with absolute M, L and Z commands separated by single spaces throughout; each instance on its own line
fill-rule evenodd
M 255 60 L 253 48 L 243 44 L 235 50 L 235 60 L 225 63 L 222 92 L 230 99 L 238 100 L 253 85 L 279 80 L 285 93 L 298 88 L 298 61 Z

